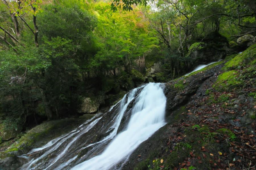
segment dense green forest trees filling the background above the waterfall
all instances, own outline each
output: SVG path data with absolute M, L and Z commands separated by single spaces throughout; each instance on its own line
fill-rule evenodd
M 0 15 L 0 118 L 23 126 L 77 113 L 88 89 L 129 90 L 156 62 L 156 81 L 186 73 L 256 17 L 250 0 L 2 0 Z

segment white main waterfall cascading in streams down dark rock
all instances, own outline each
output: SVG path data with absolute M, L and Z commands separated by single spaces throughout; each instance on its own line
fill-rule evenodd
M 108 112 L 20 156 L 28 160 L 21 169 L 121 169 L 130 154 L 166 124 L 165 107 L 163 84 L 135 88 Z

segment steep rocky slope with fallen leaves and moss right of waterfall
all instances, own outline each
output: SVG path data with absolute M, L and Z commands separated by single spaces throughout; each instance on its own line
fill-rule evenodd
M 124 169 L 255 169 L 255 49 L 167 83 L 168 124 Z

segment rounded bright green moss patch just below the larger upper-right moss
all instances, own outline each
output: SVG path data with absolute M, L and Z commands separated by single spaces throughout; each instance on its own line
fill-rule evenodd
M 212 87 L 219 91 L 230 91 L 236 88 L 241 84 L 241 81 L 236 78 L 237 73 L 237 71 L 231 70 L 220 74 Z

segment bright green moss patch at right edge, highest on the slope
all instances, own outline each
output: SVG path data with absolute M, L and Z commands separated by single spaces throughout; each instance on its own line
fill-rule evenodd
M 253 61 L 255 58 L 256 44 L 250 46 L 249 48 L 247 48 L 247 50 L 243 51 L 241 54 L 238 54 L 236 57 L 226 62 L 225 67 L 223 67 L 223 70 L 239 69 Z

